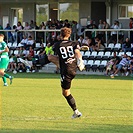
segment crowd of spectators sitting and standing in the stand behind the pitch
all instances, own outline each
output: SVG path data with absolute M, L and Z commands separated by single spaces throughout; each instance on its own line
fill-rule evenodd
M 12 44 L 17 43 L 17 46 L 15 48 L 13 49 L 10 48 L 10 64 L 8 67 L 8 71 L 16 70 L 19 72 L 23 72 L 23 71 L 27 71 L 27 69 L 29 70 L 29 68 L 25 66 L 24 63 L 19 61 L 19 58 L 32 62 L 32 67 L 30 68 L 32 72 L 35 72 L 36 63 L 39 63 L 39 60 L 41 65 L 45 65 L 49 63 L 48 60 L 46 60 L 45 62 L 42 62 L 41 59 L 44 59 L 45 55 L 47 54 L 55 54 L 54 44 L 57 41 L 61 40 L 60 32 L 47 32 L 46 41 L 45 41 L 45 38 L 44 38 L 45 33 L 43 32 L 43 30 L 61 29 L 62 27 L 68 27 L 72 29 L 72 34 L 70 39 L 78 41 L 81 47 L 81 50 L 83 50 L 84 52 L 88 50 L 90 52 L 93 52 L 93 51 L 105 52 L 107 50 L 106 48 L 109 43 L 112 43 L 115 45 L 117 42 L 119 42 L 121 44 L 121 47 L 118 52 L 123 51 L 125 55 L 126 55 L 126 52 L 131 52 L 131 55 L 133 55 L 133 32 L 132 31 L 130 32 L 130 36 L 125 36 L 124 33 L 120 31 L 119 37 L 118 37 L 119 40 L 117 40 L 116 31 L 108 32 L 108 35 L 107 35 L 108 44 L 105 44 L 104 31 L 99 31 L 99 32 L 96 32 L 95 30 L 87 31 L 84 34 L 85 29 L 122 29 L 124 28 L 122 23 L 120 23 L 117 20 L 114 21 L 113 25 L 109 25 L 105 20 L 99 20 L 99 24 L 95 24 L 95 21 L 91 20 L 86 27 L 82 27 L 81 24 L 76 21 L 70 22 L 67 19 L 64 21 L 52 20 L 52 21 L 47 21 L 46 23 L 42 22 L 40 25 L 37 25 L 35 21 L 31 20 L 30 22 L 26 22 L 24 26 L 19 21 L 17 25 L 13 25 L 13 27 L 11 27 L 9 23 L 5 28 L 3 28 L 0 25 L 0 30 L 3 30 L 0 32 L 6 35 L 5 41 L 11 42 Z M 133 18 L 130 18 L 129 28 L 133 29 Z M 36 34 L 34 34 L 32 29 L 42 30 L 42 32 L 38 31 L 36 32 Z M 7 35 L 6 32 L 4 32 L 4 30 L 14 30 L 14 31 L 11 31 L 11 32 L 8 31 L 8 35 Z M 28 30 L 28 31 L 25 31 L 25 30 Z M 46 42 L 46 44 L 43 43 L 44 41 Z M 39 44 L 39 47 L 37 47 L 37 44 Z M 45 50 L 46 47 L 48 48 L 47 50 Z M 112 51 L 112 52 L 115 52 L 115 51 Z M 121 58 L 120 60 L 122 59 L 123 58 Z M 120 60 L 118 61 L 118 63 L 120 62 Z M 129 71 L 132 74 L 132 71 L 131 71 L 132 58 L 130 59 L 128 58 L 128 60 L 130 61 L 126 64 L 126 66 L 128 66 L 126 71 Z M 112 67 L 111 69 L 113 70 L 112 73 L 115 73 L 117 69 L 117 65 L 114 63 L 112 66 L 115 66 L 115 67 Z M 106 72 L 106 75 L 108 75 L 107 72 Z

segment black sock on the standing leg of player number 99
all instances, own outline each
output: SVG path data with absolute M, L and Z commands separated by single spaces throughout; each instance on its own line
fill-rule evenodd
M 70 105 L 70 107 L 73 109 L 73 111 L 75 111 L 76 108 L 76 102 L 75 99 L 73 98 L 73 96 L 70 94 L 69 96 L 65 97 L 68 104 Z

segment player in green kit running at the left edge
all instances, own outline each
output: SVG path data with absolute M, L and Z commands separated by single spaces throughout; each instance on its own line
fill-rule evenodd
M 8 52 L 9 49 L 4 42 L 4 35 L 0 34 L 0 75 L 2 75 L 4 86 L 8 86 L 6 78 L 10 79 L 10 84 L 12 84 L 13 80 L 12 76 L 5 73 L 5 69 L 7 69 L 9 63 Z

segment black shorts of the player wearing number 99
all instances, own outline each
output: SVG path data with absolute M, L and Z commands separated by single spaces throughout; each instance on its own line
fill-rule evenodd
M 75 77 L 75 74 L 61 74 L 61 87 L 63 89 L 70 89 L 71 81 Z

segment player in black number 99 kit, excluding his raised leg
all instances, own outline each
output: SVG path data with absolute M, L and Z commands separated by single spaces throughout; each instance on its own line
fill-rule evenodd
M 76 75 L 77 66 L 80 71 L 84 69 L 82 55 L 78 43 L 69 41 L 71 29 L 64 27 L 61 29 L 62 41 L 55 44 L 55 51 L 59 57 L 62 94 L 74 111 L 72 118 L 82 116 L 76 107 L 74 97 L 70 92 L 71 81 Z

